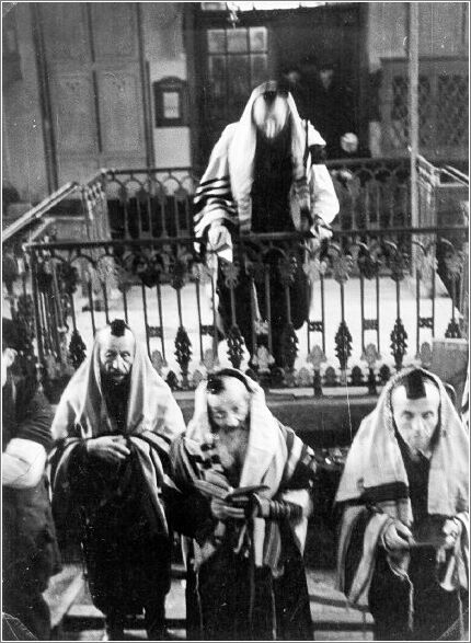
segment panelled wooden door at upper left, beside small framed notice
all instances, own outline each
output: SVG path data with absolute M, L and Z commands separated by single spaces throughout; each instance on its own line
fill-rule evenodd
M 138 4 L 39 4 L 59 185 L 146 165 Z

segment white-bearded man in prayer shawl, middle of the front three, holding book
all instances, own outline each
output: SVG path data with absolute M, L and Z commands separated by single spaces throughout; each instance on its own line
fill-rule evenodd
M 311 449 L 275 420 L 253 380 L 228 368 L 198 387 L 173 462 L 194 510 L 188 640 L 312 639 L 302 561 Z

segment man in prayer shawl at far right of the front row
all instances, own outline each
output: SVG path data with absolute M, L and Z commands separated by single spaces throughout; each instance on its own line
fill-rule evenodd
M 352 444 L 340 586 L 368 600 L 377 640 L 457 640 L 468 585 L 469 436 L 441 381 L 412 368 L 384 387 Z

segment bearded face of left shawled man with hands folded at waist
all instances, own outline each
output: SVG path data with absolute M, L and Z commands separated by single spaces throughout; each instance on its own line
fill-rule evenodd
M 130 331 L 116 337 L 106 329 L 100 337 L 100 368 L 114 383 L 122 383 L 130 374 L 136 341 Z

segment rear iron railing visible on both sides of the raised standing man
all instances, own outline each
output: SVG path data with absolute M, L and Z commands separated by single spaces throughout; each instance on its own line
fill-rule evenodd
M 328 161 L 341 210 L 335 228 L 384 228 L 410 222 L 406 159 Z M 105 174 L 110 226 L 118 239 L 192 234 L 191 168 L 108 170 Z

